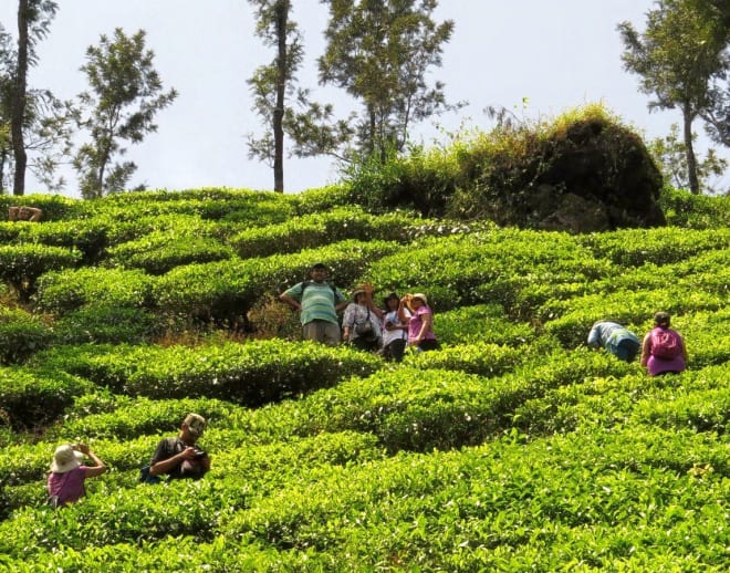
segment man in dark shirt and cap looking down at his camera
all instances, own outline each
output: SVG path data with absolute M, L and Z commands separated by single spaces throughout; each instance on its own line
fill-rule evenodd
M 159 481 L 159 476 L 168 479 L 200 479 L 210 470 L 208 454 L 196 442 L 206 429 L 206 419 L 198 414 L 188 414 L 182 420 L 180 433 L 175 438 L 165 438 L 155 449 L 149 461 L 148 477 L 143 469 L 143 481 Z

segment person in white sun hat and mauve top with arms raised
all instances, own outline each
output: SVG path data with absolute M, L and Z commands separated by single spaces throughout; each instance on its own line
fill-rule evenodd
M 87 456 L 95 465 L 84 466 Z M 84 481 L 106 471 L 104 462 L 85 444 L 64 444 L 55 449 L 48 479 L 49 503 L 54 508 L 75 503 L 86 494 Z

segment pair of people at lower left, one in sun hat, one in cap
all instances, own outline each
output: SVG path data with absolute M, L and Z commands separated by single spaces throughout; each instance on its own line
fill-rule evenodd
M 199 414 L 188 414 L 176 437 L 164 438 L 157 445 L 149 466 L 142 469 L 140 481 L 157 483 L 164 477 L 199 479 L 210 470 L 210 457 L 197 446 L 206 429 L 206 419 Z M 94 465 L 84 465 L 84 458 Z M 63 507 L 75 503 L 86 494 L 84 482 L 101 476 L 106 465 L 86 444 L 63 444 L 55 449 L 46 489 L 49 503 Z

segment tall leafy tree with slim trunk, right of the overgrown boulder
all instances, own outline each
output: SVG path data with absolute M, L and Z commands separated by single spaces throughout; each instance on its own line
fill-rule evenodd
M 697 0 L 657 0 L 639 34 L 629 22 L 618 24 L 624 42 L 624 67 L 640 76 L 640 90 L 653 94 L 649 110 L 679 108 L 682 116 L 687 179 L 700 192 L 692 122 L 712 105 L 711 82 L 728 69 L 718 21 L 705 18 Z

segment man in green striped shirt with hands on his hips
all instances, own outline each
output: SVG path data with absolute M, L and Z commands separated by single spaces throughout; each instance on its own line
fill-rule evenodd
M 327 282 L 330 272 L 319 262 L 310 270 L 309 281 L 294 284 L 279 299 L 301 313 L 304 340 L 330 346 L 340 344 L 337 312 L 347 306 L 347 299 Z

